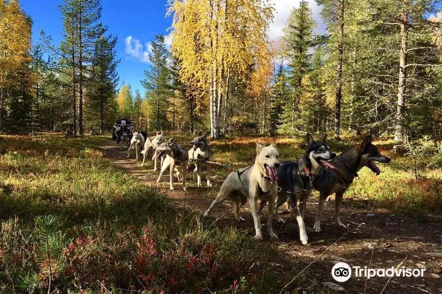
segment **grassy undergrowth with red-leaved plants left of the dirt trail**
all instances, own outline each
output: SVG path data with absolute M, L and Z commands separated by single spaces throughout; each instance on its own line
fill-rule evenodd
M 270 269 L 276 245 L 172 207 L 103 158 L 108 138 L 1 136 L 0 293 L 270 293 L 288 281 Z

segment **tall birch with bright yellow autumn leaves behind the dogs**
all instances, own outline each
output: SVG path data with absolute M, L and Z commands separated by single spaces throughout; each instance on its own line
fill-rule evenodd
M 245 80 L 266 43 L 273 9 L 263 0 L 169 0 L 168 13 L 173 15 L 172 52 L 182 60 L 181 80 L 208 98 L 211 135 L 219 138 L 229 80 L 232 73 Z

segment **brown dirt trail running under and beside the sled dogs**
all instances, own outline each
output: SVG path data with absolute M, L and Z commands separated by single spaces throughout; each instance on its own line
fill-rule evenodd
M 141 161 L 135 160 L 135 154 L 131 159 L 126 159 L 125 150 L 115 147 L 114 144 L 110 142 L 109 146 L 102 147 L 105 156 L 116 165 L 125 168 L 139 182 L 167 192 L 167 196 L 178 208 L 204 212 L 221 187 L 223 179 L 216 176 L 217 168 L 214 168 L 213 188 L 207 188 L 205 181 L 202 188 L 196 188 L 196 180 L 192 179 L 192 173 L 188 173 L 187 192 L 181 189 L 181 183 L 175 183 L 175 190 L 169 191 L 168 172 L 165 173 L 162 182 L 157 184 L 159 172 L 153 172 L 152 160 L 146 159 L 146 165 L 141 167 Z M 204 176 L 203 172 L 203 179 Z M 386 284 L 383 293 L 442 293 L 442 219 L 429 216 L 426 221 L 417 221 L 417 218 L 397 216 L 385 210 L 374 210 L 363 203 L 359 208 L 350 207 L 346 204 L 350 197 L 344 196 L 341 209 L 341 221 L 348 224 L 350 231 L 344 237 L 342 236 L 345 231 L 334 226 L 332 199 L 326 203 L 321 222 L 322 232 L 307 232 L 310 242 L 307 246 L 299 241 L 298 226 L 293 216 L 288 213 L 281 214 L 283 219 L 287 219 L 287 224 L 280 226 L 274 222 L 274 227 L 279 236 L 278 249 L 286 255 L 286 261 L 272 266 L 277 268 L 276 270 L 295 276 L 293 269 L 304 269 L 315 261 L 304 271 L 306 278 L 315 279 L 320 285 L 333 283 L 331 286 L 324 285 L 324 289 L 341 286 L 344 290 L 341 289 L 340 292 L 337 288 L 333 290 L 337 293 L 381 293 Z M 316 209 L 317 198 L 313 196 L 309 199 L 304 217 L 307 227 L 313 225 Z M 253 221 L 247 205 L 241 208 L 241 215 L 246 221 L 236 223 L 228 201 L 216 207 L 212 214 L 213 217 L 219 218 L 217 221 L 219 226 L 252 228 Z M 263 223 L 266 218 L 265 211 Z M 337 241 L 341 237 L 342 239 Z M 331 268 L 337 262 L 346 262 L 350 266 L 359 266 L 362 269 L 365 266 L 372 269 L 388 269 L 401 265 L 425 271 L 423 277 L 393 277 L 389 282 L 388 277 L 366 279 L 355 277 L 353 274 L 347 282 L 338 283 L 331 276 Z

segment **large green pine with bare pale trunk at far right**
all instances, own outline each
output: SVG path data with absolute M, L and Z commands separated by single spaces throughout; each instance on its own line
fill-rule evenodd
M 439 25 L 428 15 L 437 12 L 437 1 L 358 1 L 360 47 L 355 50 L 355 73 L 360 78 L 358 112 L 361 128 L 394 131 L 395 139 L 433 133 L 438 95 L 439 53 L 433 39 Z M 358 30 L 357 30 L 358 31 Z M 359 119 L 359 118 L 358 118 Z

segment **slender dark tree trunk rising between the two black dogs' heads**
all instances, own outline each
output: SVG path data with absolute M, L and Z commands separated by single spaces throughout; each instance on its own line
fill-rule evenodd
M 342 99 L 342 52 L 344 36 L 344 0 L 339 0 L 339 31 L 338 31 L 338 62 L 336 67 L 336 101 L 334 111 L 334 138 L 339 139 L 341 134 L 341 99 Z

